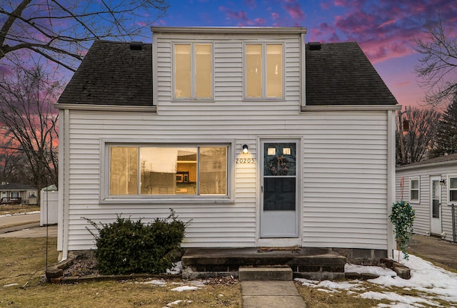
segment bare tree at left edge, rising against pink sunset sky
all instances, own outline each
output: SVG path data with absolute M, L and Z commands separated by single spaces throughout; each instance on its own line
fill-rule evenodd
M 58 113 L 53 104 L 59 93 L 60 83 L 50 81 L 39 64 L 0 76 L 0 125 L 4 140 L 11 140 L 4 150 L 23 157 L 21 172 L 38 189 L 57 183 Z

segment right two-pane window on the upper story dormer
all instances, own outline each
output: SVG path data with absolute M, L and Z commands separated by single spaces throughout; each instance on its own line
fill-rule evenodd
M 245 53 L 246 98 L 282 98 L 283 44 L 247 43 Z

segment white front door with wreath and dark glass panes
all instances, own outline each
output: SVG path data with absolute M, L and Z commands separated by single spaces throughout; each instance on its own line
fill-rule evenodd
M 261 239 L 298 238 L 298 141 L 262 140 Z

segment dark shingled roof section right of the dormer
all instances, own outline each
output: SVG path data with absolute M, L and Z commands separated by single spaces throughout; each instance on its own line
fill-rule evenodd
M 396 103 L 358 43 L 306 44 L 306 106 Z

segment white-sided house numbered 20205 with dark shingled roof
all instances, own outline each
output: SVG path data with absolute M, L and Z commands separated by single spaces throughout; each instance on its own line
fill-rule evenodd
M 303 28 L 154 27 L 96 41 L 59 108 L 61 258 L 116 215 L 183 247 L 393 248 L 396 99 L 357 43 Z

